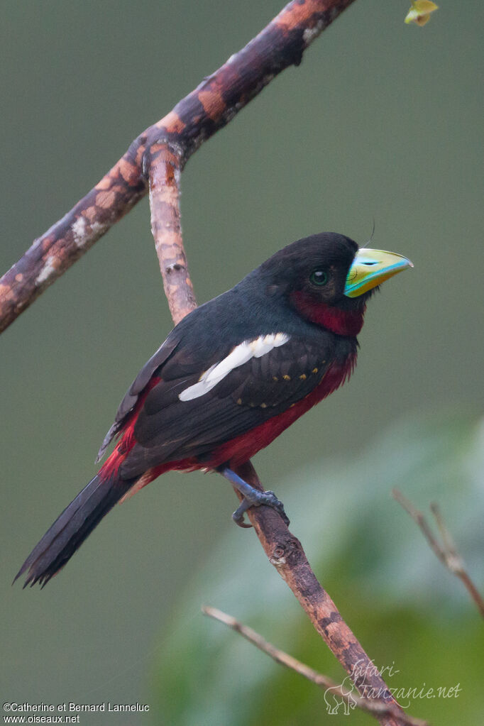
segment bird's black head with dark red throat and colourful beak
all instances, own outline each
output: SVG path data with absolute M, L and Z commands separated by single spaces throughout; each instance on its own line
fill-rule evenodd
M 358 248 L 343 234 L 322 232 L 279 250 L 261 271 L 269 295 L 284 296 L 300 315 L 338 335 L 357 335 L 369 296 L 411 266 L 401 255 Z

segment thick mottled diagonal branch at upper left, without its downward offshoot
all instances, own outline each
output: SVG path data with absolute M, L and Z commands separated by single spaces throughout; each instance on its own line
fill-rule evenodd
M 149 179 L 157 186 L 150 166 L 160 144 L 177 150 L 181 170 L 198 147 L 275 76 L 290 65 L 299 65 L 308 45 L 352 2 L 293 0 L 245 48 L 134 139 L 94 189 L 38 237 L 1 278 L 0 332 L 130 211 L 147 193 Z M 167 275 L 171 273 L 164 276 L 165 286 Z

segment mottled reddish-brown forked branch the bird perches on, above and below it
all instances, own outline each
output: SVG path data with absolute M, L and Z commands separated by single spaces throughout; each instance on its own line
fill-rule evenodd
M 293 0 L 245 48 L 205 78 L 161 121 L 144 131 L 115 166 L 60 221 L 36 240 L 0 280 L 0 332 L 48 285 L 112 227 L 148 189 L 152 231 L 174 322 L 196 305 L 181 237 L 179 177 L 189 157 L 234 118 L 276 75 L 299 65 L 303 52 L 353 0 Z M 263 489 L 250 462 L 239 476 Z M 272 565 L 287 582 L 352 677 L 361 696 L 378 698 L 393 711 L 382 725 L 406 717 L 374 664 L 313 574 L 303 547 L 270 507 L 249 510 L 250 521 Z M 358 672 L 366 675 L 358 676 Z M 395 714 L 401 714 L 398 718 Z

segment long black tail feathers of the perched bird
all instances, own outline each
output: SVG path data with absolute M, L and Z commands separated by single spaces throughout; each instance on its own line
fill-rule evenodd
M 46 531 L 15 580 L 27 572 L 24 587 L 36 582 L 44 587 L 133 484 L 133 479 L 123 481 L 115 475 L 103 481 L 97 474 Z

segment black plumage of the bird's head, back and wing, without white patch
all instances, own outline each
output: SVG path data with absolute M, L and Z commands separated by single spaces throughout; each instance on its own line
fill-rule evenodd
M 336 297 L 348 309 L 361 304 L 343 295 L 357 249 L 356 242 L 333 233 L 292 242 L 231 290 L 192 311 L 141 369 L 99 454 L 123 428 L 152 375 L 163 380 L 149 391 L 139 413 L 135 428 L 138 443 L 120 468 L 126 478 L 140 476 L 163 461 L 207 457 L 217 443 L 250 431 L 307 395 L 329 364 L 343 362 L 355 351 L 356 342 L 301 317 L 290 293 L 304 289 L 309 272 L 324 263 L 333 274 L 321 292 L 322 299 Z M 290 340 L 235 368 L 200 399 L 179 401 L 184 388 L 196 383 L 235 346 L 271 333 L 286 333 Z M 317 374 L 311 374 L 314 368 L 318 368 Z M 299 378 L 301 375 L 306 378 Z M 241 404 L 237 404 L 239 399 Z

